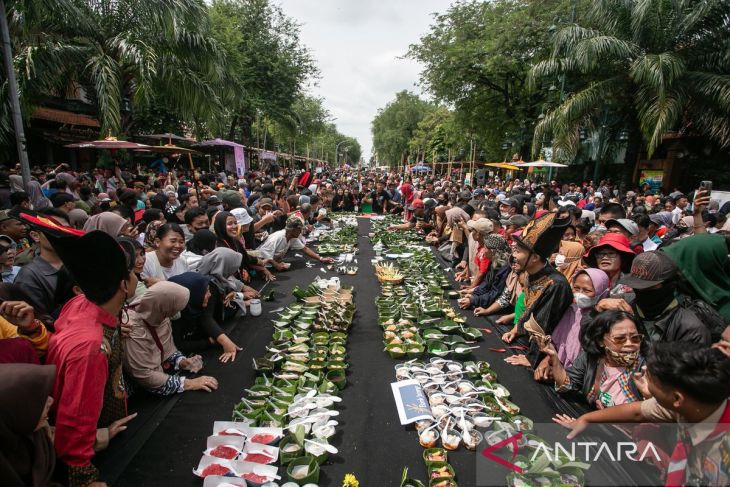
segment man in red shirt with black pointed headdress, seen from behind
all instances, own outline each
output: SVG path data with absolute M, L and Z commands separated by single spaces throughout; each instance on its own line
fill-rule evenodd
M 119 326 L 122 307 L 137 287 L 134 258 L 100 231 L 48 237 L 84 292 L 61 310 L 46 360 L 56 366 L 57 477 L 70 487 L 101 486 L 91 459 L 134 417 L 125 417 Z M 94 265 L 99 262 L 103 268 Z

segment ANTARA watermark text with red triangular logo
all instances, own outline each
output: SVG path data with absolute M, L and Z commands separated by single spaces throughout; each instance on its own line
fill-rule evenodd
M 482 456 L 489 458 L 490 460 L 514 470 L 515 472 L 522 474 L 524 469 L 519 465 L 512 463 L 517 457 L 519 451 L 519 441 L 522 439 L 522 433 L 517 433 L 505 438 L 493 445 L 486 447 L 482 450 Z M 496 450 L 511 445 L 512 446 L 512 458 L 505 460 L 494 454 Z M 571 442 L 569 446 L 565 446 L 562 443 L 555 443 L 553 448 L 549 447 L 545 443 L 539 443 L 537 448 L 530 457 L 530 463 L 533 463 L 535 459 L 540 456 L 545 456 L 546 459 L 553 462 L 556 459 L 567 460 L 569 462 L 584 461 L 584 462 L 596 462 L 598 460 L 611 460 L 612 462 L 620 462 L 622 460 L 630 460 L 632 462 L 642 462 L 646 458 L 652 458 L 656 461 L 660 461 L 659 452 L 654 447 L 654 444 L 647 442 L 642 445 L 642 448 L 636 443 L 618 442 L 616 444 L 608 444 L 605 442 L 597 441 L 576 441 Z

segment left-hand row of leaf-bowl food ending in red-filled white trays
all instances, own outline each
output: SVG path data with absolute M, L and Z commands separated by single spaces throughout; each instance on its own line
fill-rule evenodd
M 272 340 L 253 361 L 254 385 L 233 408 L 233 421 L 215 423 L 196 475 L 234 476 L 249 485 L 284 476 L 316 484 L 320 465 L 337 453 L 329 438 L 347 383 L 353 290 L 336 278 L 317 278 L 292 294 L 297 302 L 274 318 Z

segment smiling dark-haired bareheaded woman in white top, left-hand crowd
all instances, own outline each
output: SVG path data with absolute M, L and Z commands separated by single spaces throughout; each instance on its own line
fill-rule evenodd
M 150 287 L 157 281 L 166 281 L 172 276 L 187 272 L 185 261 L 180 254 L 185 250 L 185 234 L 176 223 L 165 223 L 155 235 L 153 252 L 148 252 L 142 270 L 142 279 Z

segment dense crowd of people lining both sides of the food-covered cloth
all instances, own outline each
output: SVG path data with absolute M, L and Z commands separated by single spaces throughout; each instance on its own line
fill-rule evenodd
M 289 251 L 331 263 L 306 236 L 338 212 L 399 215 L 391 230 L 422 234 L 463 283 L 459 306 L 529 347 L 506 360 L 595 409 L 556 416 L 571 434 L 682 418 L 730 428 L 730 204 L 610 181 L 323 169 L 61 165 L 27 185 L 0 171 L 3 485 L 102 485 L 92 460 L 133 420 L 128 396 L 215 391 L 199 353 L 235 360 L 226 329 Z M 728 441 L 694 446 L 722 467 Z M 697 448 L 680 450 L 668 465 Z M 682 479 L 730 480 L 727 464 L 691 460 Z

